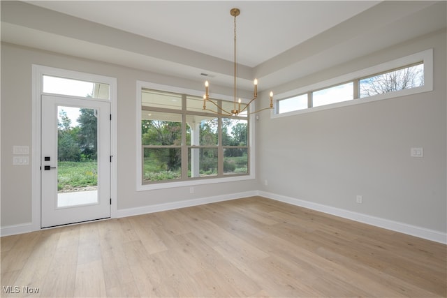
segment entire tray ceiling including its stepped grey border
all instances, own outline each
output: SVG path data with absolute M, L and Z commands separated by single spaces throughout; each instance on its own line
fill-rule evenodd
M 445 1 L 1 1 L 1 40 L 260 91 L 446 27 Z M 444 9 L 444 10 L 443 10 Z

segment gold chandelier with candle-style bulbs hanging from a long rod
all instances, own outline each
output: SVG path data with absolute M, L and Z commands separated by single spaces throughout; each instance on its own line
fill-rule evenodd
M 207 110 L 210 112 L 214 112 L 217 114 L 222 114 L 222 115 L 233 115 L 233 116 L 237 116 L 238 114 L 244 112 L 245 110 L 247 110 L 247 107 L 249 107 L 249 105 L 256 99 L 258 98 L 258 80 L 255 79 L 254 80 L 254 94 L 253 94 L 253 98 L 249 101 L 249 103 L 247 103 L 247 105 L 244 105 L 244 107 L 242 107 L 241 110 L 241 99 L 239 98 L 239 100 L 236 100 L 236 17 L 238 15 L 240 15 L 240 9 L 239 8 L 232 8 L 230 10 L 230 15 L 232 15 L 234 17 L 234 26 L 235 26 L 235 64 L 234 64 L 234 100 L 233 100 L 233 110 L 227 111 L 224 110 L 221 105 L 218 105 L 217 103 L 215 103 L 213 100 L 210 100 L 208 91 L 209 91 L 209 87 L 210 87 L 210 83 L 208 81 L 205 82 L 205 95 L 203 96 L 203 110 Z M 213 105 L 215 105 L 215 107 L 217 108 L 217 110 L 209 110 L 207 109 L 207 103 L 212 103 Z M 261 110 L 257 110 L 256 112 L 250 112 L 249 114 L 254 114 L 257 112 L 261 112 L 263 110 L 270 110 L 273 108 L 273 92 L 270 91 L 270 107 L 265 107 Z

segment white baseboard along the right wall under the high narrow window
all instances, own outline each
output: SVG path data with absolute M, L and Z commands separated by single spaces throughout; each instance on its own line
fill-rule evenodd
M 284 195 L 276 195 L 274 193 L 267 193 L 265 191 L 258 191 L 258 195 L 264 198 L 269 198 L 272 200 L 277 200 L 280 202 L 285 202 L 288 204 L 293 204 L 300 207 L 305 207 L 308 209 L 321 211 L 327 214 L 339 216 L 342 218 L 351 219 L 352 221 L 358 221 L 360 223 L 367 223 L 368 225 L 374 225 L 379 228 L 384 228 L 387 230 L 393 230 L 395 232 L 401 232 L 404 234 L 409 234 L 411 236 L 436 241 L 441 244 L 447 244 L 447 233 L 439 232 L 436 230 L 430 230 L 426 228 L 421 228 L 416 225 L 409 225 L 406 223 L 400 223 L 397 221 L 390 221 L 389 219 L 379 218 L 376 216 L 369 216 L 366 214 L 360 214 L 357 212 L 339 209 L 335 207 L 330 207 L 323 204 L 318 204 L 314 202 L 309 202 L 305 200 L 299 200 L 295 198 L 286 197 Z

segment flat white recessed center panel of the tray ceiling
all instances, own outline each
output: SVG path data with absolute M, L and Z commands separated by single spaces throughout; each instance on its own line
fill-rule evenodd
M 379 1 L 27 1 L 147 38 L 254 67 Z

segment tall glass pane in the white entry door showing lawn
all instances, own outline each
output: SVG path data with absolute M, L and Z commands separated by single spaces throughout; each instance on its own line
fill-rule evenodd
M 57 112 L 57 207 L 97 203 L 97 110 L 59 106 Z

